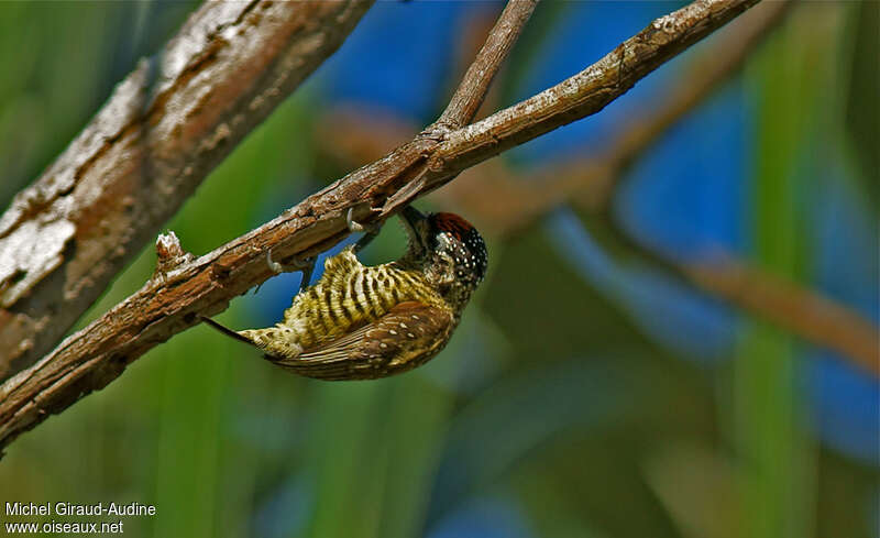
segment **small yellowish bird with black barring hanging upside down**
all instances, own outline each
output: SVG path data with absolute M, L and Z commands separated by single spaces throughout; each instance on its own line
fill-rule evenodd
M 294 297 L 275 327 L 233 331 L 202 319 L 307 377 L 371 380 L 425 364 L 449 342 L 485 276 L 486 245 L 458 215 L 424 216 L 408 206 L 400 220 L 408 235 L 403 257 L 362 265 L 355 252 L 375 235 L 370 232 L 327 259 L 321 278 Z M 351 216 L 349 227 L 363 229 Z

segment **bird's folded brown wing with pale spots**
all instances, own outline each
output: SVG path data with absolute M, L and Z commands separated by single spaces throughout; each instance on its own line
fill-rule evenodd
M 322 380 L 367 380 L 410 370 L 433 356 L 454 328 L 452 314 L 419 301 L 399 303 L 377 320 L 293 359 L 270 358 Z

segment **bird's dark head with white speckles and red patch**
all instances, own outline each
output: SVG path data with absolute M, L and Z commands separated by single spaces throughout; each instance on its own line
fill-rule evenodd
M 448 299 L 466 303 L 488 264 L 486 243 L 476 228 L 458 215 L 425 216 L 411 206 L 400 211 L 400 220 L 409 238 L 402 261 L 420 270 Z

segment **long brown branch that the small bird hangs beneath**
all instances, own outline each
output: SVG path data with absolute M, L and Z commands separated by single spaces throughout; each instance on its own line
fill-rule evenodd
M 756 1 L 697 0 L 654 21 L 560 85 L 446 136 L 419 135 L 258 229 L 158 273 L 141 290 L 0 387 L 0 446 L 47 414 L 107 385 L 148 349 L 197 323 L 198 314 L 222 310 L 232 297 L 272 276 L 265 263 L 268 249 L 276 260 L 324 250 L 346 234 L 349 208 L 359 221 L 387 218 L 462 169 L 600 111 L 638 79 Z

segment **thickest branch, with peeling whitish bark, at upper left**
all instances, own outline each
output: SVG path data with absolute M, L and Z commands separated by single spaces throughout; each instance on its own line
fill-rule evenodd
M 0 377 L 52 349 L 371 3 L 206 2 L 120 83 L 0 217 Z

